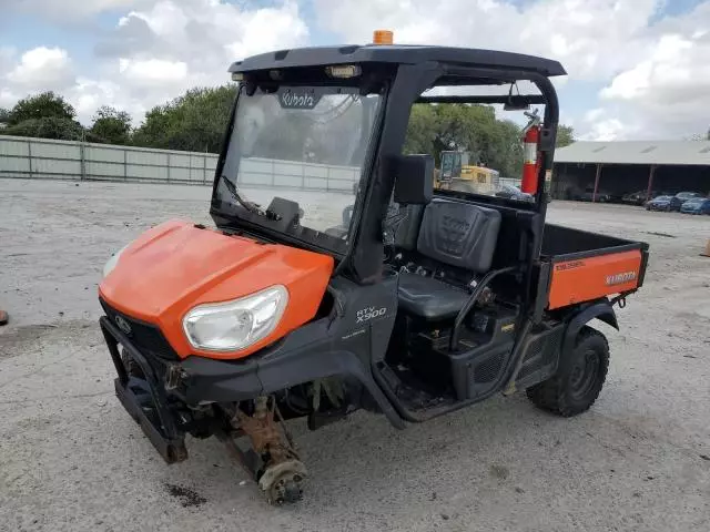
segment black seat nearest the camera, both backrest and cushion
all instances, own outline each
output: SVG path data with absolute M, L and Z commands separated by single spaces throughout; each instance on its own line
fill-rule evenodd
M 437 263 L 484 274 L 490 269 L 499 228 L 498 211 L 435 201 L 424 209 L 416 250 Z M 455 317 L 468 296 L 467 290 L 433 277 L 409 273 L 399 276 L 399 307 L 427 320 Z

